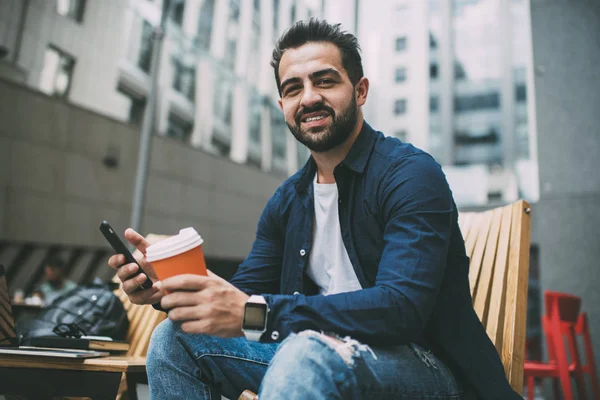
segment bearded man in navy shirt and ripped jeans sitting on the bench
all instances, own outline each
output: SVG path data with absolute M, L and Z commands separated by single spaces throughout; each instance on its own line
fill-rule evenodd
M 356 38 L 299 22 L 272 65 L 285 120 L 312 157 L 267 203 L 231 283 L 182 275 L 139 291 L 135 265 L 118 271 L 133 302 L 169 310 L 148 353 L 152 397 L 520 398 L 471 305 L 439 165 L 363 121 Z M 125 236 L 144 253 L 140 235 Z

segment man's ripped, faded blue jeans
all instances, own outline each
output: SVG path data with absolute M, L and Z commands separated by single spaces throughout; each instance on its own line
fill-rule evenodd
M 181 332 L 165 320 L 147 359 L 152 399 L 461 399 L 450 370 L 418 345 L 369 347 L 314 331 L 281 344 Z

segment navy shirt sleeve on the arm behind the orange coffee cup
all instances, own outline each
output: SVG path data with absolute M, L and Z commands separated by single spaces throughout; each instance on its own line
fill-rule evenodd
M 279 216 L 281 189 L 269 199 L 258 222 L 248 257 L 230 282 L 248 295 L 280 293 L 284 232 Z

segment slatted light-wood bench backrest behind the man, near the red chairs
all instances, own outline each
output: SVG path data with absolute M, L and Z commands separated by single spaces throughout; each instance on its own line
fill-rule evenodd
M 471 259 L 469 283 L 473 306 L 517 393 L 523 389 L 530 211 L 529 204 L 520 200 L 505 207 L 459 216 Z

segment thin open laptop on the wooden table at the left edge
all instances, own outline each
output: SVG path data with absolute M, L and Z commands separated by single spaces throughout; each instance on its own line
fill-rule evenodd
M 95 350 L 19 346 L 6 282 L 6 269 L 0 264 L 0 355 L 2 354 L 54 358 L 94 358 L 108 356 L 110 353 Z

